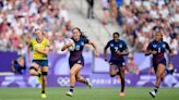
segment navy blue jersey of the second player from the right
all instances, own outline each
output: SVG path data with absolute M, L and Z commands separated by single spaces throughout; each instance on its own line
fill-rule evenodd
M 123 40 L 119 40 L 117 42 L 115 42 L 115 40 L 110 40 L 106 45 L 105 49 L 107 49 L 108 47 L 110 47 L 110 52 L 111 52 L 110 60 L 115 60 L 115 61 L 123 60 L 123 55 L 119 55 L 116 52 L 116 51 L 123 52 L 124 50 L 128 49 L 127 43 Z

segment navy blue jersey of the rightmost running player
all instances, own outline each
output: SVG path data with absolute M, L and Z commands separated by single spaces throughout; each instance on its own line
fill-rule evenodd
M 153 54 L 153 64 L 166 63 L 164 53 L 166 50 L 169 50 L 169 45 L 167 42 L 153 40 L 150 42 L 147 50 L 157 51 L 156 54 Z

